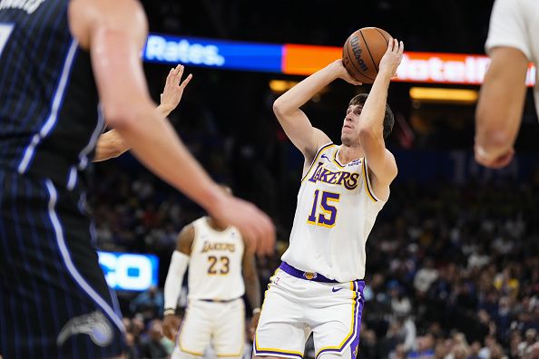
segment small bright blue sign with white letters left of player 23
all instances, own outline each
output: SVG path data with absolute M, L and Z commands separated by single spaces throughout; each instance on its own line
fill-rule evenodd
M 157 286 L 158 257 L 102 251 L 97 254 L 107 284 L 114 290 L 144 291 Z

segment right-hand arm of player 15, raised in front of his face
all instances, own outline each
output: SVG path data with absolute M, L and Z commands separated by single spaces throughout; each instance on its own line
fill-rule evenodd
M 381 185 L 380 187 L 388 186 L 397 176 L 395 158 L 386 149 L 384 141 L 384 114 L 389 82 L 397 73 L 403 51 L 402 42 L 399 43 L 396 39 L 389 41 L 387 51 L 380 60 L 377 77 L 359 116 L 359 141 L 365 151 L 371 177 L 374 177 L 371 179 L 375 182 L 375 190 L 377 184 Z

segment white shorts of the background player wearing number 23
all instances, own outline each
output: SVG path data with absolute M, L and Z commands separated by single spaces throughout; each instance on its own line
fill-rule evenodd
M 245 305 L 238 298 L 230 302 L 190 300 L 172 352 L 172 359 L 182 354 L 202 356 L 212 344 L 219 357 L 240 357 L 245 345 Z

